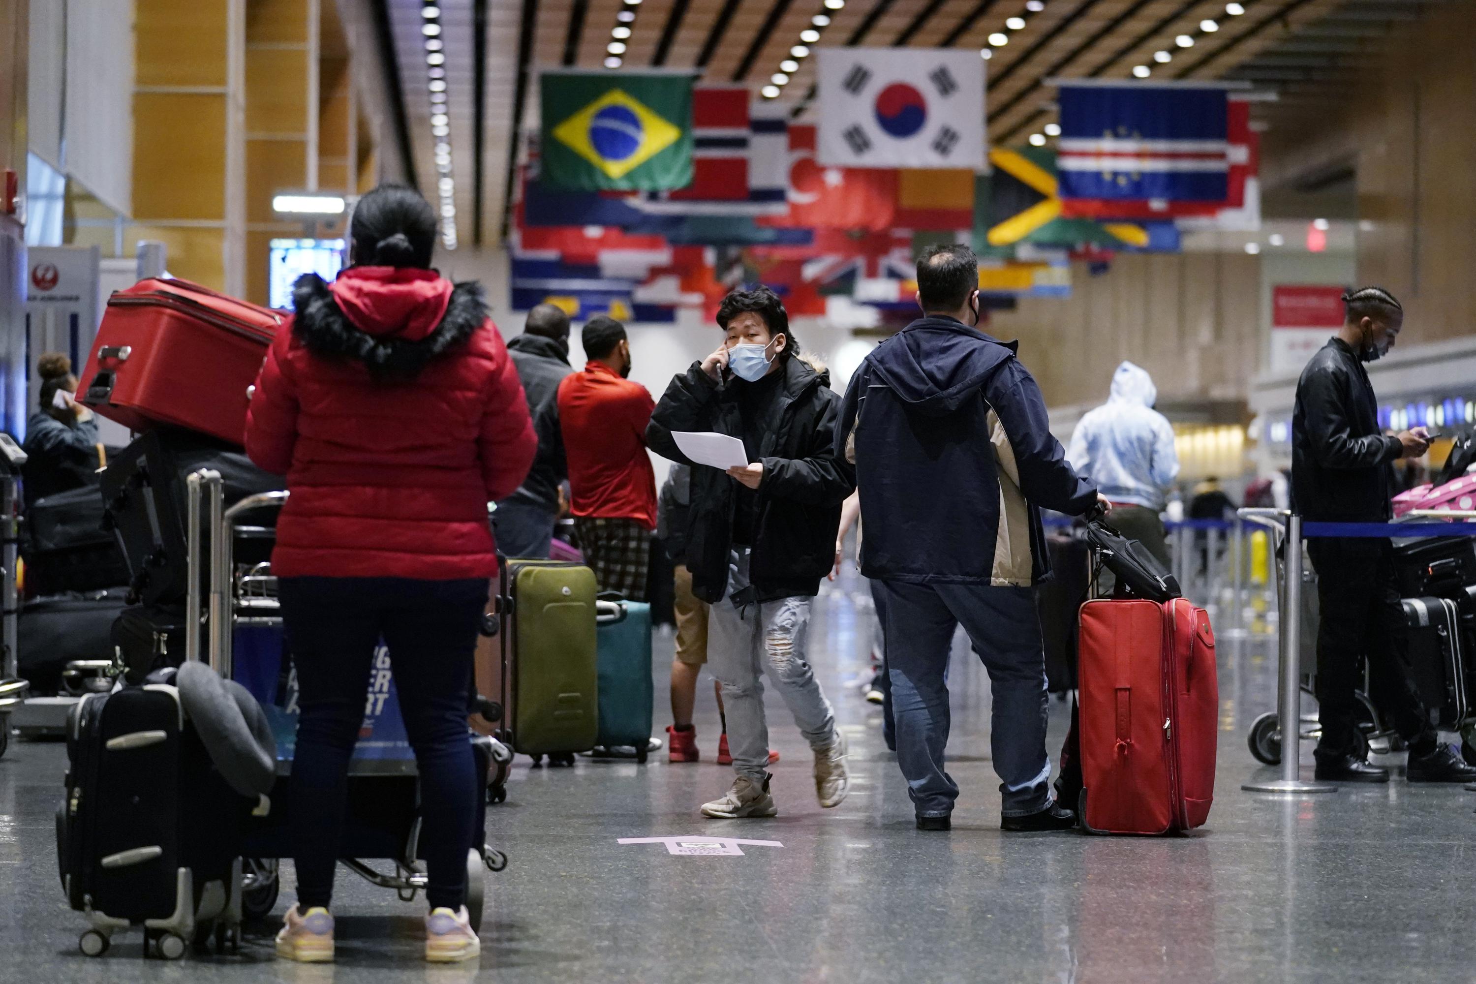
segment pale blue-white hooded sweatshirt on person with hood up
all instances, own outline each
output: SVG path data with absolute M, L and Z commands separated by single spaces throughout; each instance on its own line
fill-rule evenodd
M 1088 412 L 1072 434 L 1067 460 L 1114 503 L 1160 512 L 1179 475 L 1173 425 L 1153 409 L 1159 389 L 1145 369 L 1125 361 L 1107 403 Z

